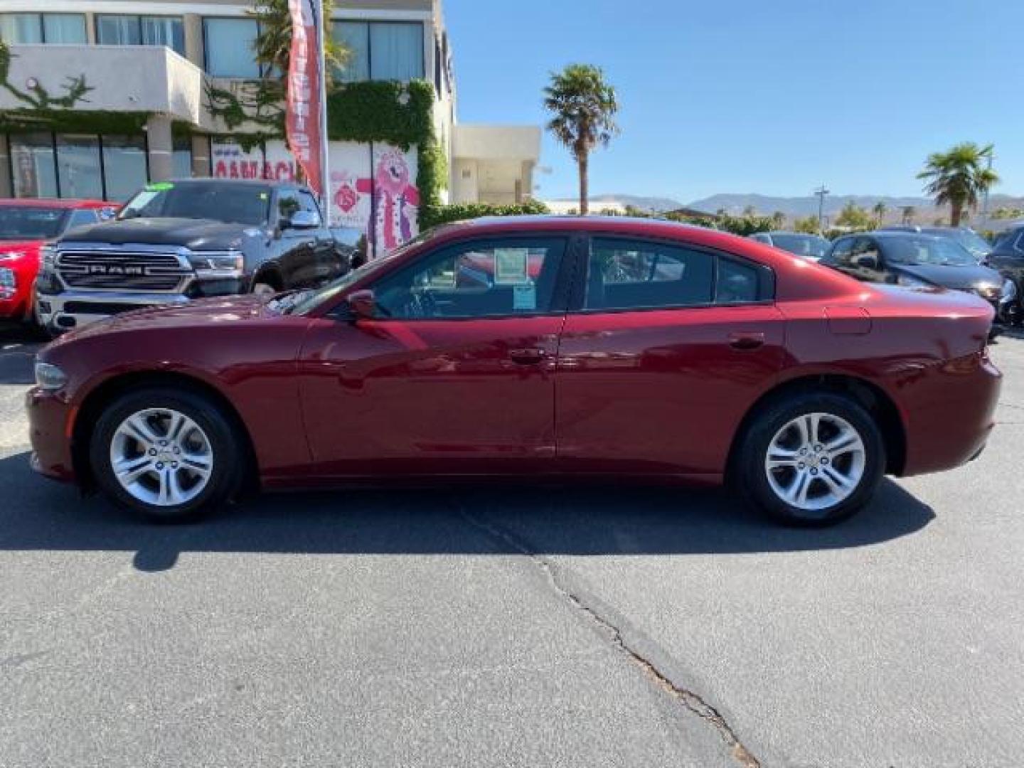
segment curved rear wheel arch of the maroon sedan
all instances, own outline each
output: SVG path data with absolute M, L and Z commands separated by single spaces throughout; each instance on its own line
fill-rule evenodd
M 799 376 L 777 384 L 762 394 L 743 415 L 732 437 L 729 463 L 726 472 L 735 475 L 735 461 L 743 436 L 759 413 L 773 403 L 795 394 L 822 393 L 842 394 L 850 397 L 870 414 L 882 432 L 886 449 L 886 474 L 899 476 L 906 461 L 906 426 L 899 408 L 893 398 L 877 384 L 847 374 L 812 374 Z

